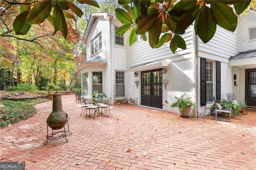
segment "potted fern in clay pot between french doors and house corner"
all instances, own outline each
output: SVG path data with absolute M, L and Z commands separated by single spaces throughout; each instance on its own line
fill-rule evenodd
M 186 93 L 180 97 L 175 96 L 176 101 L 172 103 L 171 107 L 178 107 L 180 111 L 180 117 L 189 117 L 190 109 L 195 103 L 191 97 L 186 96 Z

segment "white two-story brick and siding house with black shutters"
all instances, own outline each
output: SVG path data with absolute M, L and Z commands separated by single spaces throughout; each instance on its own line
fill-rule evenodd
M 117 35 L 122 24 L 114 14 L 91 14 L 84 38 L 87 40 L 82 72 L 86 97 L 100 90 L 112 104 L 131 103 L 178 113 L 171 108 L 175 96 L 186 93 L 196 102 L 190 116 L 210 114 L 212 95 L 226 99 L 235 93 L 256 107 L 256 12 L 239 17 L 238 28 L 217 28 L 208 43 L 194 34 L 193 27 L 182 35 L 187 49 L 173 54 L 169 44 L 152 49 L 137 36 L 129 46 L 129 33 Z

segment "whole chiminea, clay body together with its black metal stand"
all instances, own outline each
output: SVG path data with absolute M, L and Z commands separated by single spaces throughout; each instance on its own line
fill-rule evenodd
M 68 142 L 68 139 L 66 136 L 69 134 L 71 135 L 72 132 L 65 129 L 66 123 L 68 123 L 69 117 L 68 114 L 66 114 L 62 110 L 62 101 L 61 101 L 61 94 L 60 93 L 53 93 L 52 94 L 52 113 L 48 116 L 46 122 L 47 122 L 47 141 L 44 142 L 44 144 L 48 143 L 48 139 L 59 139 L 59 138 L 64 138 L 66 139 L 66 142 Z M 48 126 L 52 128 L 52 133 L 48 134 Z M 53 131 L 53 130 L 58 130 L 64 128 L 64 130 L 59 130 L 59 131 Z

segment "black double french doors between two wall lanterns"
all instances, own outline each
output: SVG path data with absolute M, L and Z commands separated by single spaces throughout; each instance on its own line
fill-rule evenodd
M 141 72 L 141 105 L 162 109 L 162 69 Z

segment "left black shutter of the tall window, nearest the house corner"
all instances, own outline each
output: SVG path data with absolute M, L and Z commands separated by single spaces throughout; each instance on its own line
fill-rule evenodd
M 201 106 L 206 105 L 206 59 L 205 58 L 200 58 L 200 92 L 201 92 Z

